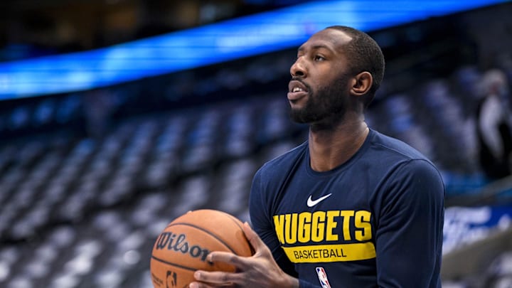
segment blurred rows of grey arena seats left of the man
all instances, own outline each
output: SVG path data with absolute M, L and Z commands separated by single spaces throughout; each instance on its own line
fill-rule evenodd
M 209 206 L 247 220 L 252 174 L 303 130 L 284 104 L 258 97 L 127 119 L 103 139 L 4 144 L 1 286 L 149 287 L 141 272 L 171 219 Z

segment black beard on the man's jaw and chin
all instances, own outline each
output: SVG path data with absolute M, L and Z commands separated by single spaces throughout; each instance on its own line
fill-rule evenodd
M 340 121 L 346 112 L 346 98 L 343 96 L 346 82 L 343 79 L 328 87 L 320 87 L 315 93 L 309 89 L 306 104 L 300 109 L 292 108 L 290 118 L 297 123 L 309 124 L 334 124 Z

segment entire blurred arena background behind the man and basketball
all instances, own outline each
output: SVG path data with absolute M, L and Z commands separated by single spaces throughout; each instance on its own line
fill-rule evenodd
M 459 3 L 464 2 L 464 3 Z M 152 287 L 188 210 L 248 220 L 252 176 L 306 139 L 297 47 L 360 28 L 387 71 L 370 127 L 437 165 L 443 287 L 512 287 L 512 2 L 0 3 L 0 287 Z

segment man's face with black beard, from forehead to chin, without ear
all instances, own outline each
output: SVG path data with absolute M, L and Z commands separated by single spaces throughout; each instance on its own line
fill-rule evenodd
M 287 95 L 295 122 L 330 124 L 343 118 L 351 80 L 343 45 L 350 40 L 342 31 L 325 29 L 300 46 Z

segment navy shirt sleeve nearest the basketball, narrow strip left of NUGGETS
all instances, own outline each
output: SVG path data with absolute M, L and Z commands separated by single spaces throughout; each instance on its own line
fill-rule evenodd
M 249 200 L 249 214 L 252 229 L 255 230 L 257 235 L 259 235 L 263 242 L 270 248 L 277 265 L 287 274 L 297 277 L 298 275 L 293 263 L 290 262 L 287 255 L 284 254 L 279 240 L 277 239 L 272 223 L 272 213 L 270 212 L 272 209 L 271 203 L 266 200 L 265 196 L 265 191 L 263 191 L 261 183 L 261 171 L 258 171 L 252 180 Z

